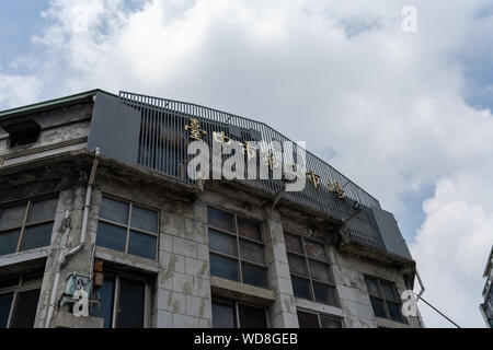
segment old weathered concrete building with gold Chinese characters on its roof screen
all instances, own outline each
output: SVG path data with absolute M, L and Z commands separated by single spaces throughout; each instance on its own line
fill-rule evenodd
M 422 326 L 400 310 L 415 261 L 374 197 L 310 153 L 299 192 L 190 179 L 188 142 L 217 136 L 255 162 L 272 153 L 249 141 L 288 141 L 100 90 L 1 112 L 0 327 Z

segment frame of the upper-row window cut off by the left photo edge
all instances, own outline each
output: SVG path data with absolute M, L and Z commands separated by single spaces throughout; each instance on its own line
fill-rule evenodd
M 33 208 L 33 203 L 35 202 L 39 202 L 39 201 L 47 201 L 47 200 L 57 200 L 57 207 L 58 207 L 58 201 L 59 201 L 59 194 L 49 194 L 49 195 L 43 195 L 43 196 L 37 196 L 37 197 L 32 197 L 28 199 L 21 199 L 21 200 L 16 200 L 16 201 L 12 201 L 12 202 L 5 202 L 5 203 L 1 203 L 0 205 L 0 210 L 3 209 L 9 209 L 9 208 L 15 208 L 15 207 L 21 207 L 21 205 L 24 206 L 24 217 L 22 218 L 22 223 L 20 226 L 12 226 L 9 229 L 4 229 L 4 230 L 0 230 L 0 236 L 3 233 L 7 232 L 11 232 L 11 231 L 15 231 L 15 230 L 20 230 L 19 233 L 19 240 L 18 240 L 18 245 L 15 247 L 15 252 L 5 254 L 5 255 L 0 255 L 0 256 L 7 256 L 7 255 L 11 255 L 11 254 L 19 254 L 21 252 L 28 252 L 28 250 L 33 250 L 33 249 L 38 249 L 38 248 L 43 248 L 43 247 L 48 247 L 51 245 L 51 238 L 53 238 L 53 229 L 55 225 L 55 219 L 57 215 L 57 211 L 55 209 L 53 219 L 46 219 L 46 220 L 42 220 L 42 221 L 34 221 L 34 222 L 28 222 L 28 217 L 31 214 L 31 210 Z M 53 223 L 51 225 L 51 235 L 49 236 L 49 244 L 45 245 L 45 246 L 41 246 L 41 247 L 36 247 L 36 248 L 31 248 L 31 249 L 25 249 L 25 250 L 21 250 L 21 246 L 22 246 L 22 242 L 24 241 L 24 236 L 25 236 L 25 232 L 27 229 L 30 228 L 35 228 L 35 226 L 41 226 L 47 223 Z

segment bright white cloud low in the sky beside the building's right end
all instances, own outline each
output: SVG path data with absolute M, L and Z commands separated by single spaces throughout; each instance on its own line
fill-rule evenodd
M 493 214 L 462 200 L 458 187 L 449 178 L 438 182 L 423 205 L 427 218 L 411 250 L 425 280 L 425 300 L 461 327 L 484 327 L 478 317 L 484 285 L 479 277 L 491 249 Z M 423 303 L 420 311 L 426 325 L 451 326 Z

